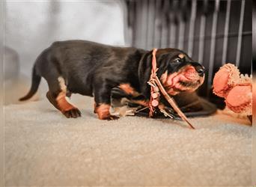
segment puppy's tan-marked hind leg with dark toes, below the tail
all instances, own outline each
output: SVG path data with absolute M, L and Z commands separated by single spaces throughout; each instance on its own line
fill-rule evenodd
M 59 76 L 58 79 L 51 79 L 51 81 L 48 82 L 48 85 L 49 91 L 46 93 L 46 97 L 49 99 L 49 102 L 55 106 L 55 108 L 61 111 L 61 113 L 67 118 L 76 118 L 81 116 L 79 109 L 67 101 L 67 87 L 61 76 Z

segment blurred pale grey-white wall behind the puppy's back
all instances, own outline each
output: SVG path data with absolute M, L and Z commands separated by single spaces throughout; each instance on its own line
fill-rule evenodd
M 4 16 L 4 45 L 29 77 L 37 55 L 55 40 L 124 45 L 121 1 L 5 1 Z

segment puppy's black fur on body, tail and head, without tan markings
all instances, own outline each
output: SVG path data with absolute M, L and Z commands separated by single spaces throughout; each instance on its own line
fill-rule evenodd
M 178 49 L 159 49 L 156 55 L 158 76 L 168 70 L 172 73 L 192 61 L 186 54 L 183 61 L 172 62 L 184 52 Z M 84 40 L 68 40 L 52 43 L 37 58 L 29 93 L 20 100 L 29 99 L 37 91 L 40 77 L 46 79 L 49 93 L 55 98 L 60 93 L 58 77 L 63 77 L 68 93 L 94 96 L 97 104 L 110 104 L 112 88 L 129 83 L 132 88 L 150 98 L 152 51 L 132 47 L 107 46 Z

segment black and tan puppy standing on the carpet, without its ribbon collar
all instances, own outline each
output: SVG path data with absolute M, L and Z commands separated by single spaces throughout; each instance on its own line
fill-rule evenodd
M 114 47 L 84 40 L 52 43 L 35 61 L 32 85 L 20 100 L 31 98 L 43 77 L 49 85 L 49 102 L 66 117 L 81 112 L 66 100 L 71 93 L 94 96 L 94 112 L 101 120 L 118 117 L 109 113 L 112 88 L 120 88 L 135 102 L 147 105 L 150 99 L 152 51 Z M 204 67 L 179 49 L 158 49 L 157 76 L 170 95 L 195 91 L 204 82 Z M 139 98 L 139 99 L 138 99 Z

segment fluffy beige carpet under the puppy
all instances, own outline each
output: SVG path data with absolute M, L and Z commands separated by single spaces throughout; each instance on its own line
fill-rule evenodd
M 79 119 L 46 99 L 7 105 L 6 186 L 250 186 L 252 127 L 223 114 L 185 123 L 98 120 L 76 96 Z M 246 125 L 247 124 L 247 125 Z

